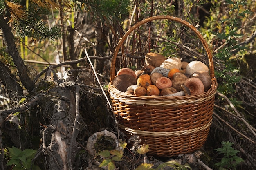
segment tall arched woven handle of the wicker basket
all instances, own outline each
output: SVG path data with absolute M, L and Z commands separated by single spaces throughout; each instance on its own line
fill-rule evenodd
M 204 46 L 204 49 L 207 53 L 207 56 L 208 56 L 208 59 L 209 59 L 211 79 L 212 79 L 212 81 L 216 80 L 215 75 L 214 75 L 213 56 L 212 56 L 211 51 L 209 49 L 209 46 L 207 45 L 207 42 L 203 38 L 202 34 L 200 34 L 200 32 L 193 25 L 191 25 L 189 22 L 187 22 L 185 20 L 182 20 L 181 18 L 166 15 L 166 16 L 152 16 L 152 17 L 146 18 L 144 20 L 141 20 L 140 22 L 137 22 L 130 29 L 128 29 L 126 34 L 124 34 L 124 36 L 119 40 L 119 42 L 117 44 L 117 47 L 115 48 L 113 58 L 112 58 L 112 61 L 111 61 L 111 67 L 110 67 L 110 81 L 112 81 L 113 78 L 115 77 L 115 63 L 116 63 L 117 54 L 119 52 L 119 49 L 121 48 L 121 46 L 124 43 L 124 41 L 126 40 L 126 38 L 130 35 L 130 33 L 132 31 L 134 31 L 135 29 L 137 29 L 140 25 L 143 25 L 143 24 L 145 24 L 147 22 L 150 22 L 150 21 L 153 21 L 153 20 L 161 20 L 161 19 L 168 19 L 168 20 L 180 22 L 180 23 L 182 23 L 183 25 L 186 25 L 187 27 L 192 29 L 192 31 L 195 32 L 195 34 L 198 36 L 198 38 L 202 42 L 202 45 Z

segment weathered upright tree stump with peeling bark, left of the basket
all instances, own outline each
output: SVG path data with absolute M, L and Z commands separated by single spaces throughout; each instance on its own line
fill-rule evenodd
M 79 127 L 76 123 L 76 117 L 79 114 L 78 108 L 76 108 L 78 103 L 74 98 L 74 94 L 72 94 L 72 90 L 68 89 L 65 83 L 52 92 L 56 94 L 55 98 L 59 99 L 52 111 L 52 138 L 48 148 L 51 150 L 55 160 L 57 160 L 58 165 L 52 159 L 49 163 L 49 169 L 58 170 L 58 167 L 61 167 L 61 170 L 71 170 L 75 155 L 80 150 L 76 142 L 79 132 Z M 76 94 L 79 95 L 79 92 Z M 53 100 L 55 99 L 53 98 Z

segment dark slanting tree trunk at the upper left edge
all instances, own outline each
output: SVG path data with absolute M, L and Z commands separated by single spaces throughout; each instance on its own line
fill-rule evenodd
M 34 89 L 35 84 L 27 74 L 27 67 L 25 66 L 22 58 L 20 57 L 18 49 L 15 46 L 14 36 L 11 32 L 11 28 L 9 27 L 6 20 L 4 20 L 3 15 L 0 15 L 0 29 L 2 29 L 3 40 L 4 44 L 7 47 L 8 54 L 13 58 L 13 62 L 17 67 L 20 80 L 24 87 L 29 92 L 31 92 Z

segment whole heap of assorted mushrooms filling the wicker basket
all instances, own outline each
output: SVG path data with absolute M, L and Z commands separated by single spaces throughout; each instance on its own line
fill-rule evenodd
M 137 96 L 199 95 L 211 88 L 208 67 L 201 61 L 190 63 L 161 54 L 147 53 L 143 70 L 122 68 L 112 81 L 113 87 Z

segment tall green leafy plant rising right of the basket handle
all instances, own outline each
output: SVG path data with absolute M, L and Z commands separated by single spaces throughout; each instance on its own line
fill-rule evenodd
M 234 57 L 234 52 L 237 54 L 243 54 L 246 52 L 246 47 L 242 43 L 238 43 L 238 39 L 243 37 L 243 34 L 239 32 L 240 22 L 243 18 L 249 15 L 251 12 L 248 10 L 243 10 L 243 6 L 247 5 L 247 2 L 243 0 L 238 0 L 233 2 L 232 0 L 225 0 L 227 5 L 231 7 L 229 10 L 229 17 L 224 17 L 220 23 L 225 25 L 223 31 L 216 31 L 213 34 L 220 40 L 225 42 L 222 48 L 218 50 L 215 55 L 219 59 L 220 63 L 223 65 L 223 70 L 216 72 L 216 77 L 222 79 L 222 83 L 219 83 L 218 90 L 222 94 L 234 93 L 234 83 L 240 81 L 241 77 L 237 76 L 236 73 L 240 72 L 236 65 L 236 57 Z M 241 55 L 242 56 L 242 55 Z

